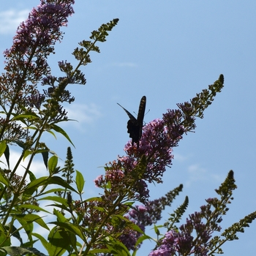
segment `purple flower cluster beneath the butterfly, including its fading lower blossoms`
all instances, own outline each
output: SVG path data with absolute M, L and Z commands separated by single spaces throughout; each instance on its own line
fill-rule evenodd
M 177 146 L 184 133 L 184 126 L 181 122 L 181 111 L 173 110 L 165 113 L 163 119 L 155 119 L 143 127 L 143 135 L 139 148 L 132 146 L 131 141 L 127 143 L 124 150 L 127 156 L 118 157 L 118 161 L 108 164 L 105 178 L 103 176 L 95 180 L 97 187 L 105 187 L 110 182 L 112 186 L 120 188 L 127 187 L 127 184 L 134 191 L 134 198 L 145 203 L 149 197 L 148 185 L 146 182 L 162 182 L 163 173 L 167 166 L 171 165 L 173 154 L 172 147 Z M 146 165 L 140 167 L 140 160 L 146 158 Z M 120 176 L 118 182 L 113 176 Z M 123 173 L 123 174 L 121 174 Z

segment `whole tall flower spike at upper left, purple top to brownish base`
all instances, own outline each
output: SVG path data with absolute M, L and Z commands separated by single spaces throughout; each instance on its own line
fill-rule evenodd
M 7 129 L 13 132 L 11 138 L 22 139 L 22 130 L 15 132 L 15 122 L 10 124 L 12 114 L 38 109 L 44 101 L 37 85 L 50 75 L 47 59 L 54 53 L 56 41 L 62 39 L 60 28 L 67 26 L 67 18 L 74 13 L 74 3 L 72 0 L 42 0 L 18 26 L 12 47 L 4 50 L 6 65 L 0 77 L 0 106 L 7 118 L 1 122 L 1 140 L 7 137 Z

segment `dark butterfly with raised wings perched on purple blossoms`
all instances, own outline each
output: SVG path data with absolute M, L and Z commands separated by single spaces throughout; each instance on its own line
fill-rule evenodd
M 118 103 L 117 103 L 118 104 Z M 120 104 L 118 104 L 121 108 L 123 108 Z M 132 138 L 132 146 L 134 143 L 137 143 L 137 147 L 139 147 L 140 138 L 142 135 L 142 127 L 143 127 L 143 118 L 146 108 L 146 96 L 143 96 L 140 99 L 140 106 L 138 111 L 138 117 L 135 118 L 129 113 L 125 108 L 124 111 L 129 116 L 129 121 L 127 122 L 127 132 L 129 133 L 129 138 Z

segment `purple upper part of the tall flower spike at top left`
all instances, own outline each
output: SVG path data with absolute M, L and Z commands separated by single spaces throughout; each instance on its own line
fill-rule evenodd
M 48 75 L 50 69 L 47 56 L 53 53 L 53 46 L 61 39 L 61 26 L 67 26 L 67 17 L 74 13 L 71 4 L 73 0 L 41 0 L 37 9 L 29 13 L 29 18 L 20 23 L 10 50 L 4 51 L 8 60 L 7 72 L 23 75 L 26 80 L 37 82 L 42 75 Z M 23 73 L 16 72 L 23 70 Z

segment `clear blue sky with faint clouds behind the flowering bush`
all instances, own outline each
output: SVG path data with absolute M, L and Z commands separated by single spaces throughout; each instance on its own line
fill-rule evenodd
M 18 23 L 26 19 L 36 0 L 4 1 L 0 12 L 0 50 L 10 48 Z M 229 170 L 234 170 L 238 189 L 222 227 L 229 227 L 256 210 L 255 96 L 256 96 L 256 2 L 255 1 L 81 1 L 75 3 L 61 44 L 50 57 L 53 75 L 61 75 L 57 61 L 76 62 L 71 53 L 78 42 L 102 23 L 119 18 L 101 53 L 92 53 L 92 63 L 83 67 L 86 86 L 70 86 L 76 100 L 67 106 L 65 124 L 75 148 L 75 168 L 86 178 L 85 197 L 98 195 L 93 180 L 103 173 L 106 162 L 124 154 L 127 115 L 137 112 L 140 98 L 147 97 L 144 121 L 161 118 L 167 108 L 195 97 L 225 76 L 225 87 L 205 117 L 197 120 L 195 133 L 174 148 L 174 160 L 164 183 L 151 186 L 151 198 L 184 184 L 184 192 L 173 203 L 175 209 L 186 195 L 186 214 L 199 211 L 204 199 L 215 197 Z M 1 71 L 4 58 L 1 57 Z M 64 138 L 45 137 L 46 143 L 65 159 L 69 143 Z M 18 148 L 12 148 L 17 151 Z M 13 154 L 15 154 L 13 152 Z M 34 171 L 43 169 L 37 159 Z M 173 208 L 167 211 L 172 212 Z M 186 216 L 186 214 L 184 216 Z M 164 219 L 167 219 L 167 213 Z M 227 242 L 226 255 L 252 255 L 256 223 Z M 148 255 L 154 243 L 142 246 Z

